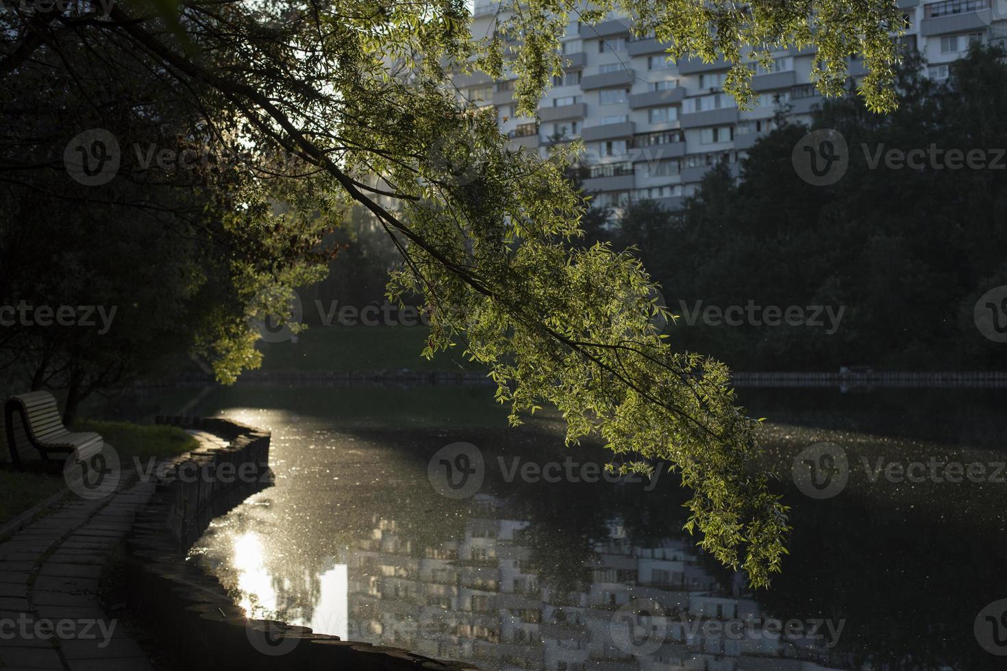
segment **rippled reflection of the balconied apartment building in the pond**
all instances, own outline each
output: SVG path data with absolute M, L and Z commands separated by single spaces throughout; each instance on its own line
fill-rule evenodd
M 346 557 L 348 638 L 487 671 L 834 668 L 836 625 L 775 626 L 740 579 L 720 585 L 688 539 L 634 546 L 612 518 L 591 579 L 558 591 L 533 565 L 529 523 L 500 518 L 491 497 L 484 504 L 463 537 L 435 546 L 376 518 Z

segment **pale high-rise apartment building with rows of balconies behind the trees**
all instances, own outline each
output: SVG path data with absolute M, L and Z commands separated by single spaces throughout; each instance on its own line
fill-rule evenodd
M 947 78 L 948 64 L 973 41 L 1007 45 L 1005 5 L 898 0 L 911 23 L 902 42 L 926 58 L 929 76 Z M 473 34 L 491 32 L 498 10 L 498 2 L 476 0 Z M 476 73 L 454 82 L 468 100 L 496 109 L 515 147 L 544 155 L 556 142 L 583 139 L 584 186 L 598 192 L 598 204 L 613 208 L 641 199 L 678 208 L 718 162 L 737 175 L 738 161 L 772 129 L 777 112 L 808 121 L 822 102 L 809 83 L 814 49 L 779 50 L 771 69 L 753 62 L 758 105 L 742 112 L 723 92 L 724 61 L 669 62 L 664 44 L 634 37 L 629 26 L 629 19 L 617 16 L 593 26 L 571 22 L 562 40 L 569 64 L 541 101 L 537 119 L 515 116 L 513 79 Z M 862 61 L 852 60 L 849 73 L 863 77 Z

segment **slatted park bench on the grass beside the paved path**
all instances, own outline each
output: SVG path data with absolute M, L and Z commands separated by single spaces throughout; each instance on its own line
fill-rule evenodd
M 15 433 L 14 418 L 20 420 L 20 432 Z M 48 391 L 29 391 L 11 396 L 4 405 L 4 429 L 10 460 L 21 468 L 21 457 L 17 452 L 17 434 L 38 450 L 42 461 L 47 461 L 51 453 L 74 454 L 77 461 L 87 462 L 101 453 L 104 441 L 95 433 L 73 433 L 66 431 L 56 399 Z

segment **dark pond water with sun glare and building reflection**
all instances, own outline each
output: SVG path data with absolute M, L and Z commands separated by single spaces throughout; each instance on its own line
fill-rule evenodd
M 671 474 L 606 479 L 481 386 L 213 391 L 199 412 L 273 432 L 276 483 L 190 560 L 257 617 L 482 669 L 1003 668 L 1007 394 L 742 396 L 793 507 L 767 590 L 681 530 Z

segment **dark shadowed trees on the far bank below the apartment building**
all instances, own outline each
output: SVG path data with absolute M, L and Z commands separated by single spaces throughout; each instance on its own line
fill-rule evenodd
M 836 129 L 848 145 L 847 171 L 833 185 L 797 174 L 792 151 L 810 129 L 784 124 L 749 151 L 739 181 L 718 167 L 682 212 L 643 201 L 596 230 L 617 247 L 635 245 L 683 317 L 697 301 L 844 308 L 832 334 L 826 313 L 821 327 L 682 319 L 665 331 L 676 348 L 711 352 L 737 370 L 1004 367 L 1005 346 L 984 337 L 973 315 L 981 296 L 1007 285 L 1003 52 L 973 48 L 947 81 L 910 58 L 898 87 L 891 115 L 853 97 L 815 114 L 812 130 Z M 886 160 L 889 150 L 916 148 L 926 152 L 920 170 Z M 980 150 L 973 165 L 986 167 L 950 167 L 954 149 Z

